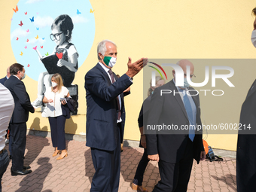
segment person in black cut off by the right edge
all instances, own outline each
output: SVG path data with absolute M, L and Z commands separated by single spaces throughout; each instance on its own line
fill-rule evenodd
M 256 8 L 252 10 L 256 16 Z M 256 18 L 251 42 L 256 47 Z M 238 192 L 256 190 L 256 80 L 248 90 L 240 114 L 236 148 L 236 186 Z

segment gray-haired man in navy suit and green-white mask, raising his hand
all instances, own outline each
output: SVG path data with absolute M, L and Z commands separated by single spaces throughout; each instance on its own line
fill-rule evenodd
M 127 63 L 126 74 L 117 78 L 111 71 L 117 47 L 109 40 L 97 47 L 99 62 L 85 75 L 87 99 L 87 146 L 91 148 L 95 174 L 90 191 L 117 191 L 120 178 L 120 143 L 123 142 L 125 109 L 123 91 L 133 84 L 143 58 Z

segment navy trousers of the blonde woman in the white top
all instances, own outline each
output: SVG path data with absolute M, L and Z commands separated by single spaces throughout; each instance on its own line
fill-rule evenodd
M 65 139 L 65 123 L 66 117 L 60 115 L 58 117 L 49 117 L 50 123 L 50 136 L 53 143 L 53 147 L 58 150 L 66 149 Z

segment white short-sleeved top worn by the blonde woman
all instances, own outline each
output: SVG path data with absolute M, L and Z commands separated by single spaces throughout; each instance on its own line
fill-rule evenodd
M 61 91 L 57 91 L 54 93 L 51 90 L 51 87 L 47 88 L 47 90 L 44 93 L 44 96 L 49 100 L 53 99 L 53 102 L 48 102 L 46 105 L 46 108 L 44 108 L 44 111 L 42 112 L 42 117 L 58 117 L 62 115 L 62 109 L 61 109 L 61 102 L 60 98 L 64 98 L 68 95 L 69 90 L 62 86 Z

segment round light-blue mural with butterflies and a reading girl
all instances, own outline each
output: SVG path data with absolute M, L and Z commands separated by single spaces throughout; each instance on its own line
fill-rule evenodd
M 44 110 L 44 91 L 55 73 L 62 75 L 64 86 L 77 102 L 78 85 L 72 82 L 95 35 L 90 1 L 20 0 L 13 10 L 11 46 L 15 59 L 25 66 L 26 75 L 38 81 L 38 97 L 32 105 Z

